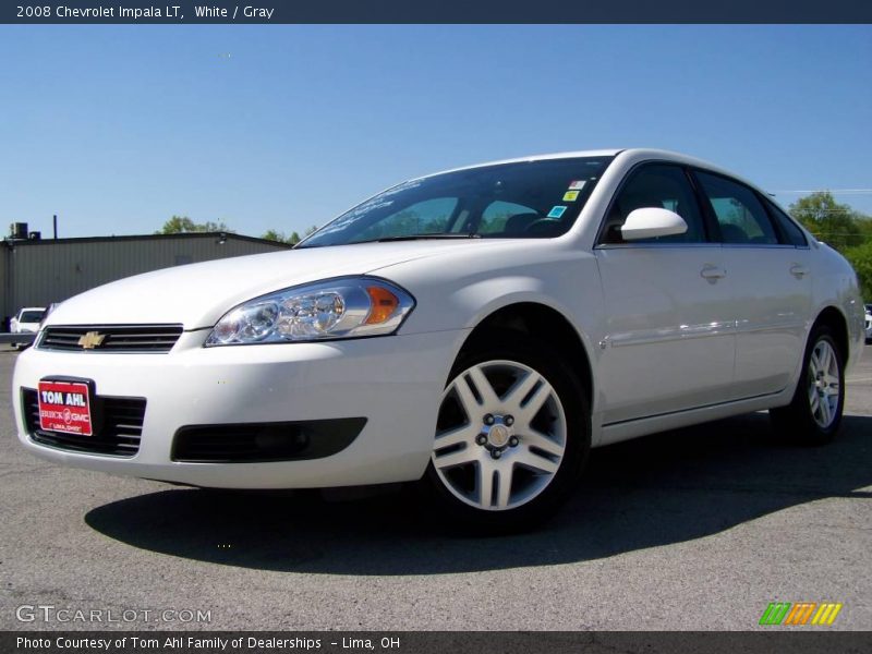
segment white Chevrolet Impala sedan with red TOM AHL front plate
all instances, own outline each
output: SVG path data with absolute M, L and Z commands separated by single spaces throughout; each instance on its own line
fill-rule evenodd
M 821 444 L 863 342 L 851 267 L 675 153 L 596 150 L 393 186 L 294 250 L 60 304 L 17 361 L 45 459 L 196 486 L 420 481 L 523 528 L 591 447 L 770 410 Z

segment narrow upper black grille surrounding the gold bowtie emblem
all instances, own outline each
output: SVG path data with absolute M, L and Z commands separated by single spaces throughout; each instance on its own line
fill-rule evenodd
M 92 347 L 80 344 L 93 332 Z M 47 327 L 38 350 L 94 352 L 169 352 L 182 335 L 181 325 L 70 325 Z M 100 339 L 99 337 L 102 337 Z M 96 341 L 99 340 L 99 343 Z

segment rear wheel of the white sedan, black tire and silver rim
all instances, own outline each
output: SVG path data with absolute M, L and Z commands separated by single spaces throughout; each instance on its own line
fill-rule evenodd
M 835 438 L 845 407 L 845 355 L 826 325 L 812 329 L 792 401 L 770 411 L 773 424 L 798 445 Z

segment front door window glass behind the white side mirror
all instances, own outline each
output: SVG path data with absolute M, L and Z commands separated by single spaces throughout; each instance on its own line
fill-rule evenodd
M 634 209 L 656 207 L 675 211 L 688 223 L 688 231 L 674 237 L 642 239 L 632 243 L 703 243 L 705 229 L 693 189 L 679 166 L 649 164 L 632 172 L 608 210 L 602 243 L 623 243 L 620 228 Z

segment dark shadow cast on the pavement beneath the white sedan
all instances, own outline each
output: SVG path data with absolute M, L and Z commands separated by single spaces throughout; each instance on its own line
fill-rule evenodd
M 596 559 L 715 534 L 796 505 L 872 497 L 872 417 L 826 447 L 784 445 L 752 414 L 594 450 L 578 493 L 537 531 L 451 535 L 408 487 L 316 493 L 173 488 L 89 511 L 96 531 L 178 557 L 277 571 L 429 574 Z

